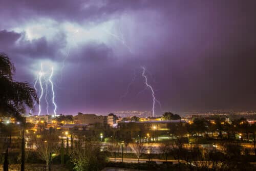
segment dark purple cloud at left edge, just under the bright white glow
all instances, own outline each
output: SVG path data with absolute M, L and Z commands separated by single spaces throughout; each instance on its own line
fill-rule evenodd
M 31 58 L 58 58 L 59 50 L 66 47 L 66 35 L 63 33 L 54 36 L 53 40 L 47 40 L 46 37 L 27 40 L 26 33 L 0 31 L 0 42 L 3 42 L 0 47 L 1 51 L 15 56 L 26 56 Z

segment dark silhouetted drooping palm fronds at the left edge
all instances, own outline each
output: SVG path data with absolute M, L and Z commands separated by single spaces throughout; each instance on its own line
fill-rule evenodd
M 35 89 L 28 82 L 13 79 L 15 67 L 5 53 L 0 53 L 0 115 L 19 117 L 26 107 L 38 103 Z

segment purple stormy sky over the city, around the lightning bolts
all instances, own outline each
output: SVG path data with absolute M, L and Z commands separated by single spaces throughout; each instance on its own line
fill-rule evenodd
M 151 91 L 138 94 L 145 88 L 141 66 L 163 111 L 253 110 L 255 6 L 253 0 L 3 0 L 0 51 L 14 62 L 15 79 L 32 85 L 41 63 L 46 80 L 54 67 L 57 114 L 151 111 Z M 51 97 L 49 84 L 50 114 Z

